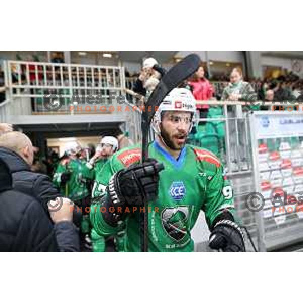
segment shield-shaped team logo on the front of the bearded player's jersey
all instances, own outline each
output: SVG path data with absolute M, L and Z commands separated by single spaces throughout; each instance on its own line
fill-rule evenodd
M 167 234 L 176 241 L 187 235 L 188 208 L 167 208 L 161 213 L 161 221 Z

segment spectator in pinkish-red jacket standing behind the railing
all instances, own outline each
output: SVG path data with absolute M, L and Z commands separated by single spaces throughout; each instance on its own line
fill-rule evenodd
M 214 93 L 214 88 L 205 78 L 205 71 L 202 62 L 200 63 L 200 67 L 194 73 L 193 77 L 188 81 L 189 85 L 192 87 L 192 93 L 196 100 L 203 101 L 203 100 L 210 100 Z M 208 104 L 197 104 L 197 109 L 200 114 L 200 118 L 204 119 L 207 117 Z M 205 124 L 206 121 L 201 121 L 200 124 Z

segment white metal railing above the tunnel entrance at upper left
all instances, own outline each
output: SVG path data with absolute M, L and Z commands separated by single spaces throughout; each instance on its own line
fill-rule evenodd
M 33 114 L 111 113 L 113 96 L 124 95 L 123 67 L 6 61 L 5 70 L 9 98 L 13 103 L 22 98 Z M 45 108 L 43 97 L 49 95 L 61 100 L 59 110 Z M 71 105 L 80 106 L 88 96 L 98 101 L 94 111 L 72 109 Z

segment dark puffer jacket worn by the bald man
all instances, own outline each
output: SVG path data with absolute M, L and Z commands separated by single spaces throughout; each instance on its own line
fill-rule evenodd
M 13 150 L 0 147 L 0 159 L 6 162 L 12 173 L 13 188 L 37 199 L 48 214 L 48 201 L 62 196 L 52 180 L 47 175 L 32 172 L 29 165 Z M 74 211 L 73 222 L 80 226 L 80 212 Z

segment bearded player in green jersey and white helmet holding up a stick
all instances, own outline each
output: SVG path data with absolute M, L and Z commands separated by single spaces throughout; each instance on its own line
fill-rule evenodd
M 202 210 L 212 249 L 245 251 L 243 233 L 234 222 L 233 191 L 220 161 L 185 144 L 195 108 L 189 90 L 173 89 L 153 120 L 156 140 L 148 147 L 150 159 L 140 163 L 138 146 L 120 150 L 106 163 L 103 195 L 90 213 L 94 234 L 114 234 L 125 222 L 125 251 L 140 251 L 139 214 L 146 211 L 148 251 L 191 252 L 190 231 Z M 143 207 L 146 201 L 148 208 Z

